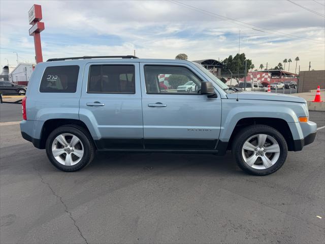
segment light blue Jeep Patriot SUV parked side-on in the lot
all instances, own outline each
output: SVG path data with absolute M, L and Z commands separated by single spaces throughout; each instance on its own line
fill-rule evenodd
M 232 150 L 243 170 L 267 175 L 316 136 L 304 99 L 232 90 L 186 60 L 49 59 L 37 65 L 22 105 L 23 138 L 63 171 L 82 169 L 95 150 Z

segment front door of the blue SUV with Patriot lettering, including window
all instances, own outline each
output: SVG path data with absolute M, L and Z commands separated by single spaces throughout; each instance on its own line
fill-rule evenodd
M 206 81 L 186 64 L 140 63 L 146 149 L 215 149 L 221 99 L 201 95 Z

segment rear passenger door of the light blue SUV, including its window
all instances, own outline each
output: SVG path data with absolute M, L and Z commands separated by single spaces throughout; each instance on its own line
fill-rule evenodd
M 85 65 L 79 116 L 98 131 L 99 149 L 142 149 L 139 63 Z

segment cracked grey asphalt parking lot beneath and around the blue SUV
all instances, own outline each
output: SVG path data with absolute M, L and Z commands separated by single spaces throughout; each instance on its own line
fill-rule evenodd
M 325 129 L 264 177 L 230 153 L 101 153 L 66 173 L 8 123 L 20 119 L 0 105 L 1 243 L 325 243 Z

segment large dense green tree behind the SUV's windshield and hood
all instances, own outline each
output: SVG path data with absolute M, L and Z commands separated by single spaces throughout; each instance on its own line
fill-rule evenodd
M 245 74 L 245 60 L 247 60 L 247 71 Z M 239 63 L 239 77 L 236 77 L 236 74 L 238 74 L 238 63 Z M 246 59 L 245 53 L 241 53 L 233 57 L 233 55 L 230 55 L 229 57 L 222 60 L 222 64 L 224 64 L 225 69 L 230 70 L 234 74 L 234 78 L 239 80 L 239 78 L 243 78 L 247 75 L 248 70 L 251 69 L 252 66 L 252 60 Z

